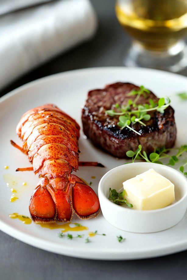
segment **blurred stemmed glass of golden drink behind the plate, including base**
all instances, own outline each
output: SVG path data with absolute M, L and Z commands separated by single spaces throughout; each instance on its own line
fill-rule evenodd
M 117 0 L 115 11 L 133 38 L 126 66 L 171 72 L 187 67 L 187 0 Z

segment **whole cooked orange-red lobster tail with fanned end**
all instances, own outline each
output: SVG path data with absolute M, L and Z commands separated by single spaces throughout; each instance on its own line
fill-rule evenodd
M 80 219 L 96 217 L 100 204 L 93 189 L 72 171 L 78 169 L 79 125 L 53 104 L 36 107 L 20 119 L 16 133 L 23 140 L 19 147 L 28 154 L 40 181 L 29 210 L 36 223 L 65 222 L 73 212 Z M 18 168 L 31 170 L 32 168 Z

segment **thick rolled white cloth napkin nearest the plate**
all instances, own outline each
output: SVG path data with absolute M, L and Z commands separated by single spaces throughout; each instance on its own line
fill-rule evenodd
M 0 16 L 0 89 L 90 39 L 96 28 L 89 0 L 52 1 Z

